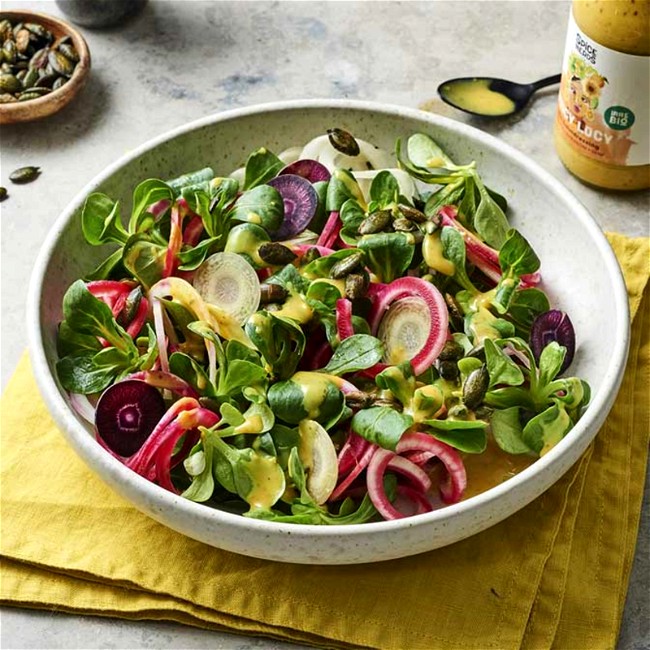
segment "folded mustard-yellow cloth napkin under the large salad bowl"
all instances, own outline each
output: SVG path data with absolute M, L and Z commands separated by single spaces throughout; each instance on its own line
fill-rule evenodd
M 273 563 L 157 524 L 68 447 L 25 356 L 2 400 L 0 600 L 328 647 L 614 647 L 648 454 L 650 300 L 649 240 L 610 241 L 636 318 L 623 387 L 595 442 L 506 521 L 401 560 Z

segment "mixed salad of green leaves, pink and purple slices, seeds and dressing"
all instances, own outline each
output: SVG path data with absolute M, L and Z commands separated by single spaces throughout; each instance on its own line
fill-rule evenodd
M 330 128 L 143 180 L 130 215 L 89 194 L 110 254 L 63 298 L 60 384 L 131 471 L 248 518 L 401 519 L 505 481 L 590 389 L 480 172 L 424 132 L 387 151 Z

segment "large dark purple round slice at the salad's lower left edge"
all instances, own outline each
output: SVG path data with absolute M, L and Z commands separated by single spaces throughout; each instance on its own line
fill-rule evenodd
M 116 454 L 132 456 L 166 410 L 157 388 L 139 379 L 125 379 L 109 386 L 99 398 L 95 413 L 97 434 Z

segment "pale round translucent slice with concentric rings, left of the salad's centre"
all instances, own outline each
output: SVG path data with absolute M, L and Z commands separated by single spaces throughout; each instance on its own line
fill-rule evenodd
M 260 304 L 260 281 L 253 267 L 237 253 L 215 253 L 194 275 L 203 300 L 245 323 Z

